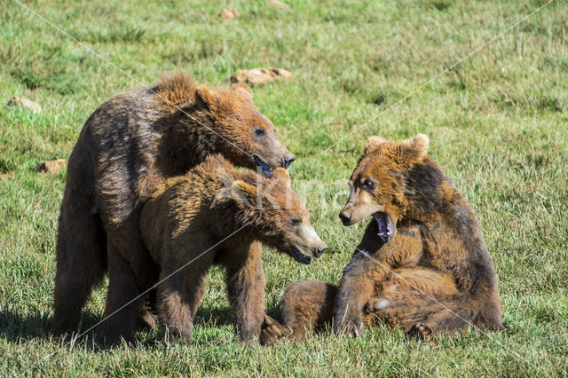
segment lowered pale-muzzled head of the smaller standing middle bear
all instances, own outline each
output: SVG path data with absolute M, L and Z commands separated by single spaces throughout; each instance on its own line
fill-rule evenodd
M 327 244 L 310 223 L 310 213 L 292 191 L 286 169 L 274 169 L 272 177 L 245 174 L 217 193 L 214 204 L 233 201 L 240 224 L 249 224 L 258 240 L 287 253 L 302 264 L 311 264 Z

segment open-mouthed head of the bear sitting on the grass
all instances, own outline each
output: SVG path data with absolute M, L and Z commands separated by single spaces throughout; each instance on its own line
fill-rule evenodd
M 411 172 L 430 162 L 428 145 L 429 139 L 423 134 L 403 142 L 368 138 L 349 181 L 349 199 L 339 214 L 343 224 L 356 224 L 373 216 L 377 235 L 388 242 L 397 231 L 398 221 L 408 213 L 407 194 L 414 185 Z

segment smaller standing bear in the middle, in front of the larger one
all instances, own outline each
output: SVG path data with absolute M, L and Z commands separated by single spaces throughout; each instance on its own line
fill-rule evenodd
M 161 266 L 159 319 L 188 343 L 212 264 L 225 267 L 235 328 L 241 341 L 252 342 L 264 319 L 260 243 L 303 264 L 327 248 L 286 169 L 257 177 L 237 172 L 219 155 L 159 186 L 143 206 L 140 231 Z

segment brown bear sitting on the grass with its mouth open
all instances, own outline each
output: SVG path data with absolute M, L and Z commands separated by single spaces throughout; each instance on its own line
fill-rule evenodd
M 336 334 L 359 335 L 369 319 L 426 338 L 469 324 L 502 330 L 491 256 L 469 202 L 438 163 L 429 140 L 372 137 L 351 175 L 345 225 L 371 217 L 339 287 L 296 282 L 281 303 L 282 327 L 266 318 L 262 341 L 301 339 L 332 318 Z

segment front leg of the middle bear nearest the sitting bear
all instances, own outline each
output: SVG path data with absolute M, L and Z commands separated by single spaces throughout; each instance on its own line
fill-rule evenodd
M 227 292 L 241 342 L 256 343 L 264 320 L 264 270 L 260 242 L 233 248 L 224 256 Z

